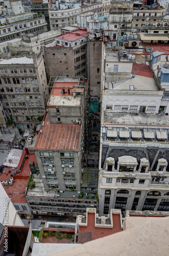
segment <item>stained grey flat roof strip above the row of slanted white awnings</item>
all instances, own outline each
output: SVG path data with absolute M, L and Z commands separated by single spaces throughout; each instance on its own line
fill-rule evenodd
M 106 114 L 106 115 L 105 115 Z M 122 125 L 135 125 L 135 126 L 169 126 L 169 118 L 164 114 L 152 115 L 152 114 L 139 114 L 135 116 L 134 113 L 124 113 L 124 112 L 106 112 L 104 114 L 104 122 L 112 123 L 119 126 Z M 162 128 L 162 127 L 161 127 Z

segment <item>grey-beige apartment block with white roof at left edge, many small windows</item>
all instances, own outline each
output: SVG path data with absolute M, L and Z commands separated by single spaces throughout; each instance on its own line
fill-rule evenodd
M 1 59 L 0 66 L 5 121 L 20 130 L 30 128 L 43 117 L 49 95 L 42 52 Z

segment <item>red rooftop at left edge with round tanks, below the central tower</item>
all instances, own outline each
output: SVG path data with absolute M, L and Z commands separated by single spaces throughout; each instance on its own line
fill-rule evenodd
M 28 158 L 25 159 L 21 173 L 16 173 L 14 175 L 13 185 L 3 185 L 6 193 L 13 203 L 26 203 L 26 199 L 24 197 L 24 192 L 27 185 L 27 179 L 30 177 L 31 170 L 29 163 L 30 161 L 34 161 L 35 165 L 37 164 L 36 157 L 34 154 L 27 155 Z M 21 159 L 23 160 L 22 156 Z M 20 163 L 20 162 L 19 162 Z M 19 166 L 19 164 L 18 164 Z M 10 170 L 10 173 L 8 173 Z M 11 178 L 11 173 L 13 172 L 12 167 L 4 167 L 3 172 L 0 174 L 0 181 L 7 180 Z

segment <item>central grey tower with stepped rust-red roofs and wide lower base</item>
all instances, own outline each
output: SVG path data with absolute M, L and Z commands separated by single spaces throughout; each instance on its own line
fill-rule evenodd
M 26 194 L 34 215 L 77 214 L 87 205 L 97 207 L 90 188 L 80 192 L 87 105 L 87 80 L 56 78 L 34 147 L 40 175 L 34 175 L 35 188 Z

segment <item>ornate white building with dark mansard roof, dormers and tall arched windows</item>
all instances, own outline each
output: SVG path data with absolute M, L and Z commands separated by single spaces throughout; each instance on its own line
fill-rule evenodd
M 145 65 L 145 57 L 132 51 L 133 55 L 115 53 L 112 47 L 103 47 L 100 214 L 108 214 L 110 208 L 121 209 L 124 215 L 126 210 L 168 210 L 169 205 L 168 118 L 164 114 L 168 101 L 164 102 L 163 88 Z M 152 65 L 159 64 L 159 56 L 154 52 Z

